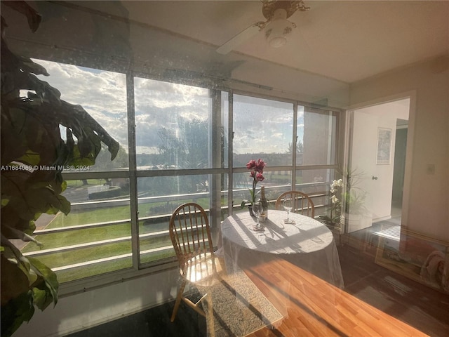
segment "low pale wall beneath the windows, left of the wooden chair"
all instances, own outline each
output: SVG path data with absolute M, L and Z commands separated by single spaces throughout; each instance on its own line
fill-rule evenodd
M 175 298 L 179 272 L 168 270 L 59 298 L 53 308 L 36 309 L 14 337 L 65 336 L 119 319 Z

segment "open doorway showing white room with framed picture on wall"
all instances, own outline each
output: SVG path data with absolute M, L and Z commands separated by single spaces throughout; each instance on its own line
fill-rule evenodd
M 347 168 L 358 174 L 363 216 L 347 221 L 346 232 L 401 219 L 410 98 L 349 112 Z M 396 138 L 397 137 L 397 138 Z

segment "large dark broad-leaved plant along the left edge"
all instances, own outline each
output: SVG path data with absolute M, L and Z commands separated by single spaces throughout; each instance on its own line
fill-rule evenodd
M 33 32 L 38 29 L 41 16 L 24 1 L 4 4 L 26 15 Z M 36 77 L 48 76 L 43 67 L 8 48 L 6 27 L 1 17 L 1 336 L 29 321 L 34 306 L 43 310 L 58 301 L 55 273 L 23 256 L 11 239 L 39 244 L 32 237 L 34 221 L 42 213 L 70 211 L 61 195 L 62 169 L 95 164 L 101 143 L 111 159 L 119 150 L 81 106 L 61 100 L 57 89 Z

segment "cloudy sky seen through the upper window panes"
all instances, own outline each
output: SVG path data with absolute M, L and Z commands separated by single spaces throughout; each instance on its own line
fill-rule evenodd
M 82 105 L 119 143 L 128 147 L 126 76 L 57 62 L 34 60 L 58 88 L 62 100 Z M 178 132 L 181 119 L 210 118 L 208 90 L 151 79 L 135 78 L 135 121 L 138 153 L 155 153 L 161 127 Z M 303 112 L 298 107 L 298 136 L 302 140 Z M 234 95 L 234 152 L 284 153 L 292 143 L 291 103 Z M 259 150 L 255 150 L 258 147 Z

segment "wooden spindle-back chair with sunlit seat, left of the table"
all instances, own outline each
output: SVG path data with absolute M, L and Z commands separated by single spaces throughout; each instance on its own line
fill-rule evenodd
M 208 305 L 206 317 L 208 329 L 213 333 L 212 297 L 206 293 L 194 303 L 183 295 L 185 286 L 189 282 L 196 286 L 208 287 L 220 282 L 221 277 L 225 275 L 224 263 L 213 252 L 206 212 L 199 204 L 182 204 L 173 211 L 169 228 L 182 277 L 170 321 L 175 320 L 181 300 L 206 317 L 206 313 L 200 306 L 204 300 Z

